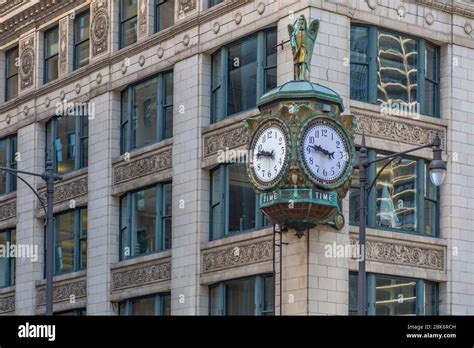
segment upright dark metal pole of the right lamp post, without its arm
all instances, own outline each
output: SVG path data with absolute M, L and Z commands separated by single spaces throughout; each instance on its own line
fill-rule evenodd
M 365 147 L 365 134 L 362 134 L 362 143 L 359 150 L 359 185 L 360 185 L 360 196 L 359 196 L 359 247 L 360 247 L 360 260 L 359 260 L 359 274 L 357 284 L 357 312 L 358 315 L 367 315 L 366 312 L 366 297 L 367 297 L 367 275 L 365 272 L 365 223 L 366 223 L 366 185 L 367 185 L 367 148 Z

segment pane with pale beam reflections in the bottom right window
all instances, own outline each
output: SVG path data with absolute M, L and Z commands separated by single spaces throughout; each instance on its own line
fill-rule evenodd
M 376 315 L 416 315 L 416 282 L 376 277 Z

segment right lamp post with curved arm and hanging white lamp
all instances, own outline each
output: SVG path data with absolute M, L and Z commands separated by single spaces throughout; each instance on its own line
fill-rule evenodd
M 359 195 L 359 245 L 361 252 L 361 259 L 359 261 L 359 273 L 358 273 L 358 284 L 357 284 L 357 314 L 358 315 L 367 315 L 367 274 L 366 274 L 366 211 L 367 211 L 367 197 L 372 190 L 377 178 L 380 173 L 395 159 L 399 158 L 401 155 L 405 155 L 410 152 L 421 150 L 424 148 L 432 147 L 433 148 L 433 160 L 429 165 L 430 180 L 436 187 L 439 187 L 444 182 L 446 177 L 446 164 L 441 158 L 441 139 L 439 135 L 436 134 L 434 140 L 429 144 L 415 147 L 410 150 L 397 152 L 387 156 L 376 158 L 375 160 L 369 161 L 367 158 L 367 148 L 365 146 L 365 134 L 362 134 L 361 147 L 359 150 L 359 163 L 357 165 L 359 169 L 359 185 L 357 188 L 360 189 Z M 376 162 L 384 161 L 389 159 L 377 173 L 370 186 L 367 181 L 367 171 L 369 167 Z M 368 187 L 368 188 L 367 188 Z

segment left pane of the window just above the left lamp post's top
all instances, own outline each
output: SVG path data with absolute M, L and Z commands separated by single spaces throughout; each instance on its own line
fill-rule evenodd
M 75 169 L 77 139 L 76 118 L 63 116 L 56 119 L 57 133 L 54 140 L 56 162 L 59 174 Z

